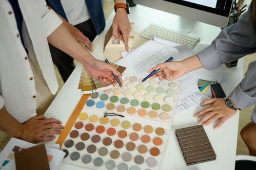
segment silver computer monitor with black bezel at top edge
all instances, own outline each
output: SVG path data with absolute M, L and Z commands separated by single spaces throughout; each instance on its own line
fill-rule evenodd
M 220 28 L 227 26 L 233 4 L 233 0 L 134 0 L 134 2 Z M 194 25 L 192 29 L 193 27 Z

